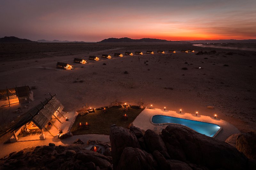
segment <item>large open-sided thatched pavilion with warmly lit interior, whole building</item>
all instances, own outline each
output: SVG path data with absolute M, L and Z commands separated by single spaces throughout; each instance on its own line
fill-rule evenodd
M 26 141 L 31 140 L 31 138 L 33 138 L 33 140 L 43 140 L 45 138 L 45 134 L 43 133 L 44 130 L 44 132 L 49 132 L 55 137 L 57 134 L 52 134 L 49 126 L 53 125 L 57 128 L 54 125 L 53 119 L 55 118 L 56 121 L 58 120 L 60 122 L 60 118 L 64 116 L 62 112 L 63 105 L 54 96 L 51 96 L 48 99 L 45 98 L 45 100 L 36 107 L 28 110 L 20 120 L 12 124 L 4 134 L 1 134 L 1 136 L 11 132 L 13 134 L 10 138 L 11 142 Z M 37 136 L 33 136 L 33 133 L 35 135 L 37 133 Z M 28 134 L 30 135 L 28 136 Z

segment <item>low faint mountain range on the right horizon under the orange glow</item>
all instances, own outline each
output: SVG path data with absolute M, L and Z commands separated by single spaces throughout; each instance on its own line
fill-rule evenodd
M 183 41 L 182 41 L 183 42 Z M 191 43 L 256 43 L 255 39 L 250 40 L 193 40 L 193 41 L 184 41 Z

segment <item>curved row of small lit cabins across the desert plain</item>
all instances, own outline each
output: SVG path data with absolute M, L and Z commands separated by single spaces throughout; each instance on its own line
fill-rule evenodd
M 180 52 L 188 53 L 188 52 L 195 52 L 195 51 L 194 50 L 181 50 Z M 157 51 L 157 53 L 163 54 L 165 52 L 164 51 Z M 169 50 L 169 53 L 176 53 L 176 51 L 175 50 Z M 136 51 L 135 54 L 143 55 L 143 53 L 141 51 Z M 154 54 L 154 51 L 147 51 L 146 54 Z M 133 55 L 133 53 L 132 52 L 125 52 L 124 55 Z M 123 57 L 124 55 L 122 55 L 121 53 L 115 53 L 114 54 L 114 56 L 116 56 L 116 57 Z M 112 58 L 112 57 L 108 54 L 103 54 L 101 56 L 101 58 Z M 97 57 L 97 56 L 89 56 L 89 60 L 98 61 L 98 60 L 100 60 L 100 58 Z M 75 58 L 74 63 L 85 64 L 85 63 L 87 63 L 87 61 L 82 59 L 82 58 Z M 68 63 L 61 63 L 61 62 L 57 63 L 56 68 L 57 69 L 64 69 L 64 70 L 75 69 L 75 67 L 73 65 L 68 64 Z

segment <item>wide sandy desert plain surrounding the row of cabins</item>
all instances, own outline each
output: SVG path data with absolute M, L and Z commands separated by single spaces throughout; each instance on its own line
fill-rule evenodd
M 254 44 L 255 45 L 255 44 Z M 79 46 L 79 47 L 78 47 Z M 21 85 L 36 86 L 33 107 L 47 93 L 57 94 L 65 111 L 84 105 L 101 107 L 111 102 L 182 110 L 186 113 L 218 115 L 241 132 L 256 129 L 256 52 L 252 50 L 193 46 L 188 43 L 36 43 L 0 44 L 0 89 Z M 238 47 L 241 44 L 237 45 Z M 243 44 L 245 48 L 246 44 Z M 225 46 L 227 47 L 227 45 Z M 255 46 L 254 46 L 255 47 Z M 178 53 L 171 54 L 168 50 Z M 180 53 L 216 50 L 216 54 Z M 74 57 L 125 51 L 164 50 L 166 54 L 133 55 L 73 64 L 76 70 L 55 68 L 57 61 L 73 63 Z M 30 52 L 31 51 L 31 52 Z M 233 55 L 227 55 L 232 52 Z M 187 62 L 187 63 L 186 63 Z M 103 65 L 106 63 L 106 65 Z M 223 66 L 228 64 L 228 66 Z M 83 68 L 81 66 L 84 66 Z M 181 68 L 187 67 L 188 70 Z M 196 69 L 201 67 L 202 69 Z M 124 74 L 128 71 L 129 74 Z M 75 80 L 84 82 L 73 83 Z M 207 106 L 214 106 L 208 109 Z M 1 122 L 11 122 L 18 114 L 15 105 L 3 108 Z M 26 109 L 23 109 L 26 112 Z

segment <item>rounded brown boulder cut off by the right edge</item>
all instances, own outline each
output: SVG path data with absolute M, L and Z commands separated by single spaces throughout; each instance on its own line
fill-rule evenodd
M 249 159 L 256 160 L 256 131 L 239 134 L 236 138 L 236 148 Z

